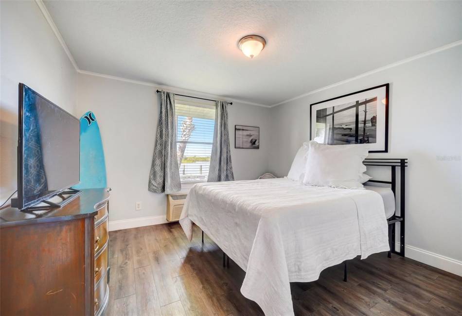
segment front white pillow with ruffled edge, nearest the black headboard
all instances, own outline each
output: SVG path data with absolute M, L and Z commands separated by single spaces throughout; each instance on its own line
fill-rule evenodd
M 303 183 L 348 189 L 364 188 L 361 181 L 364 180 L 366 166 L 362 161 L 368 154 L 369 146 L 365 144 L 323 145 L 311 141 Z

